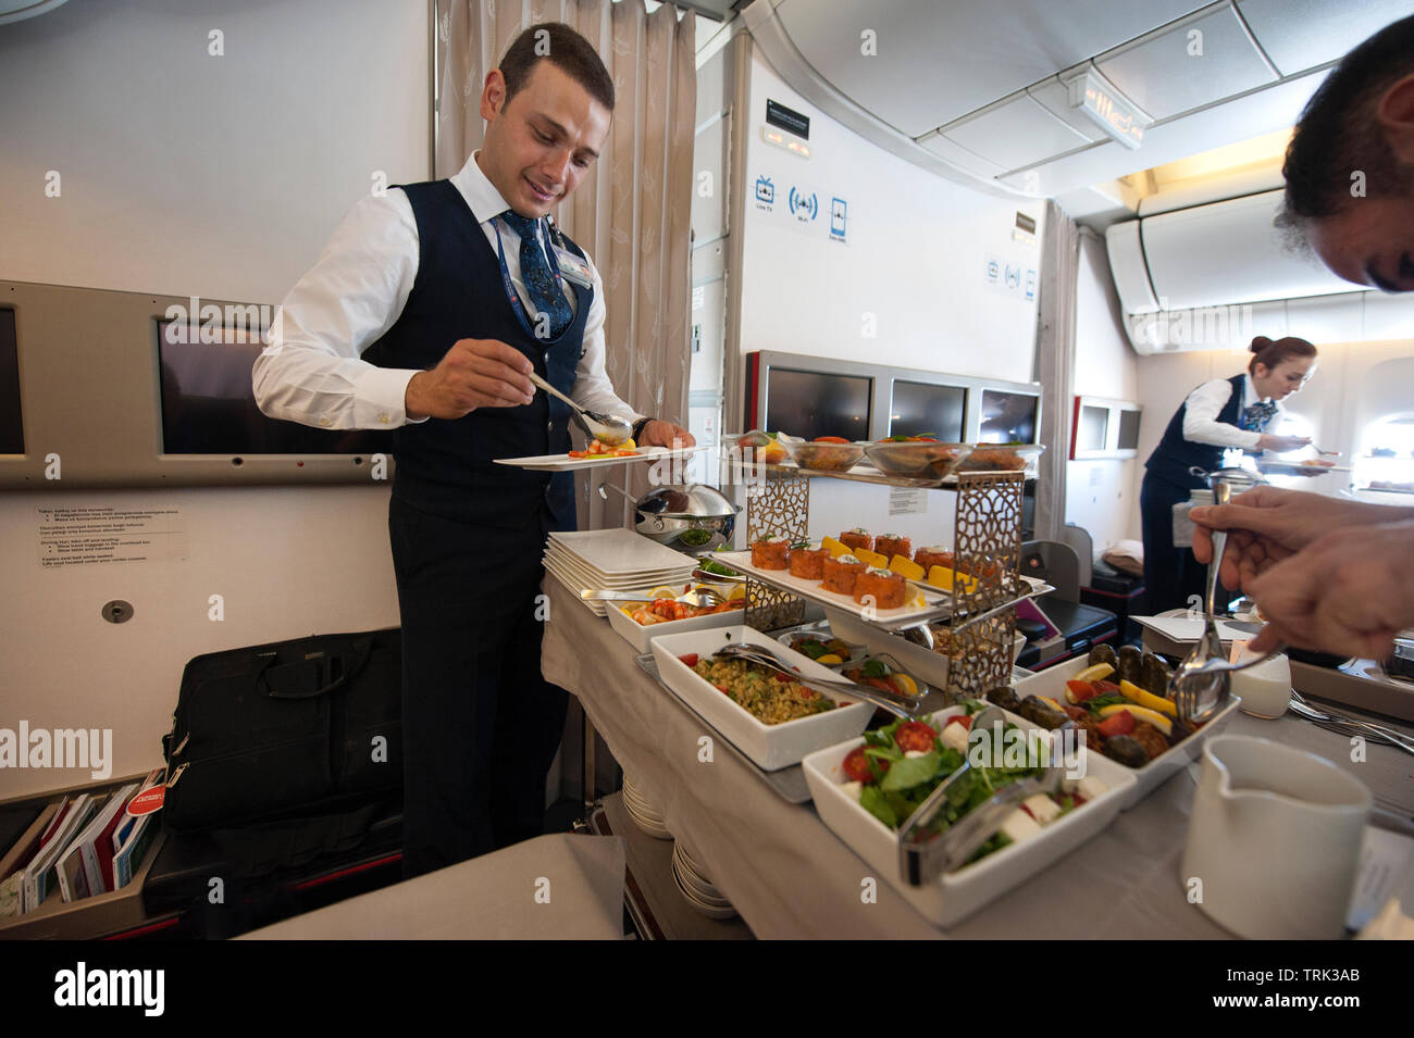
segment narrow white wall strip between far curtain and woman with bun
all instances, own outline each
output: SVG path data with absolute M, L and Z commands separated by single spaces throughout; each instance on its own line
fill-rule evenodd
M 1104 240 L 1080 234 L 1075 314 L 1075 393 L 1145 402 L 1144 425 L 1154 421 L 1147 401 L 1138 395 L 1138 356 L 1124 335 L 1120 301 L 1114 292 Z M 1075 407 L 1075 401 L 1069 401 Z M 1069 443 L 1052 443 L 1052 451 L 1069 453 Z M 1138 493 L 1134 459 L 1104 458 L 1066 462 L 1066 523 L 1089 531 L 1099 555 L 1116 541 L 1138 538 Z

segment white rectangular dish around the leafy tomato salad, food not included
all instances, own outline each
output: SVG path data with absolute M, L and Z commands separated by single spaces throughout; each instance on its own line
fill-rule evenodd
M 933 717 L 949 717 L 962 712 L 963 708 L 950 706 Z M 1007 719 L 1019 727 L 1036 727 L 1024 717 L 1010 713 Z M 847 781 L 844 758 L 863 741 L 863 736 L 851 739 L 840 746 L 812 753 L 802 761 L 814 809 L 836 836 L 936 926 L 950 926 L 964 919 L 1102 832 L 1124 809 L 1124 801 L 1135 785 L 1130 768 L 1099 754 L 1087 754 L 1089 774 L 1109 787 L 1106 792 L 1021 843 L 1008 845 L 930 884 L 913 887 L 899 874 L 898 837 L 894 830 L 860 806 L 858 801 L 843 788 Z

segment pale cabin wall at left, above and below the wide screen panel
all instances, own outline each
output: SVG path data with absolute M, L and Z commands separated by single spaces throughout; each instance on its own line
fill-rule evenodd
M 277 304 L 375 171 L 426 179 L 427 32 L 426 4 L 389 0 L 71 0 L 0 27 L 0 277 Z M 0 494 L 0 726 L 112 729 L 112 774 L 141 771 L 191 657 L 396 626 L 387 496 Z M 49 504 L 177 508 L 187 558 L 41 569 Z M 103 621 L 112 599 L 133 619 Z M 6 767 L 0 799 L 89 781 Z

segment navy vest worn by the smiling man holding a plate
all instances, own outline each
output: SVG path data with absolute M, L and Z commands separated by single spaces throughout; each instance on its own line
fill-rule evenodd
M 501 261 L 451 181 L 397 185 L 417 219 L 417 278 L 407 305 L 382 339 L 363 352 L 379 367 L 431 369 L 458 339 L 499 339 L 520 350 L 536 373 L 567 394 L 584 343 L 590 288 L 574 285 L 574 321 L 554 339 L 536 339 L 516 316 Z M 566 239 L 567 246 L 584 251 Z M 533 325 L 532 325 L 533 326 Z M 551 530 L 573 530 L 574 475 L 493 465 L 496 458 L 557 455 L 570 449 L 570 410 L 549 394 L 519 407 L 477 408 L 448 421 L 428 418 L 393 435 L 393 494 L 414 508 L 501 530 L 539 528 L 542 504 Z

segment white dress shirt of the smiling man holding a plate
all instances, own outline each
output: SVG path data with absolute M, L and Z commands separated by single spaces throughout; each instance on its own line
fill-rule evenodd
M 472 154 L 451 178 L 481 223 L 492 250 L 505 243 L 506 270 L 526 312 L 536 306 L 520 280 L 520 236 L 495 217 L 510 206 L 486 179 Z M 540 247 L 544 249 L 544 225 Z M 327 429 L 380 429 L 424 422 L 407 417 L 407 383 L 417 369 L 387 369 L 361 360 L 403 312 L 417 277 L 417 220 L 399 189 L 359 199 L 334 230 L 314 267 L 284 297 L 270 328 L 270 346 L 256 359 L 252 387 L 256 404 L 270 418 Z M 588 261 L 594 298 L 584 321 L 584 356 L 570 397 L 594 411 L 636 421 L 604 373 L 604 281 Z M 566 280 L 570 308 L 578 298 Z M 502 287 L 488 285 L 488 298 Z M 451 349 L 451 343 L 445 343 Z

